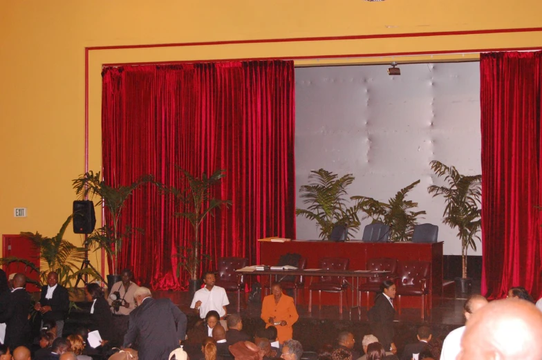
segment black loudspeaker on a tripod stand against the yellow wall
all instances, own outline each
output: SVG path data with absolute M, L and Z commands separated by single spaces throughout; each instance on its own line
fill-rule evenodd
M 73 232 L 75 234 L 85 234 L 85 240 L 83 243 L 85 254 L 80 270 L 91 267 L 91 269 L 93 269 L 97 274 L 98 278 L 100 278 L 100 281 L 102 281 L 102 283 L 106 283 L 104 278 L 100 276 L 100 272 L 98 272 L 88 260 L 88 242 L 86 239 L 87 235 L 94 231 L 95 226 L 96 214 L 94 212 L 94 203 L 91 200 L 75 200 L 73 202 Z M 75 287 L 79 285 L 80 281 L 83 281 L 83 283 L 86 285 L 88 283 L 88 276 L 86 274 L 79 274 L 79 276 L 77 276 L 77 281 L 75 282 Z

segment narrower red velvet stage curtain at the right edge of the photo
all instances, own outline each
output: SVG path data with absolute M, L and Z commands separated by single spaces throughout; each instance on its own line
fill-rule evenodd
M 538 298 L 542 53 L 480 55 L 482 293 Z

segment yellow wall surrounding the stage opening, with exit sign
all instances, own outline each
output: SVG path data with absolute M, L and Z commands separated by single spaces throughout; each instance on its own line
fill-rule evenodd
M 196 41 L 393 35 L 542 27 L 526 0 L 0 1 L 0 233 L 53 235 L 71 212 L 71 179 L 84 172 L 85 48 Z M 102 64 L 260 57 L 371 55 L 297 64 L 472 59 L 469 50 L 540 48 L 542 32 L 90 50 L 90 169 L 100 169 Z M 466 53 L 465 53 L 466 52 Z M 465 54 L 464 54 L 465 53 Z M 28 218 L 14 218 L 27 207 Z M 68 238 L 80 244 L 80 237 Z M 1 249 L 0 249 L 1 251 Z

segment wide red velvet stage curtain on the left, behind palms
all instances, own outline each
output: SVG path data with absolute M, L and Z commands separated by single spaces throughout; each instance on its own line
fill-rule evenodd
M 103 173 L 129 184 L 144 173 L 183 187 L 174 164 L 200 176 L 227 175 L 216 196 L 232 200 L 201 227 L 203 252 L 259 260 L 256 239 L 295 238 L 294 66 L 250 61 L 106 68 L 102 92 Z M 171 254 L 193 238 L 153 185 L 133 193 L 122 222 L 144 229 L 125 241 L 121 268 L 156 290 L 185 287 Z

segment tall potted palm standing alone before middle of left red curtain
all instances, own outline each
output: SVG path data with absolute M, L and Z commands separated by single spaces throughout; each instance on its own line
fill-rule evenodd
M 173 257 L 178 258 L 178 266 L 183 267 L 190 275 L 189 291 L 196 292 L 200 287 L 200 265 L 203 261 L 209 260 L 210 256 L 201 254 L 200 225 L 207 215 L 214 216 L 214 210 L 218 207 L 230 207 L 230 200 L 221 200 L 214 198 L 212 187 L 214 187 L 221 178 L 226 176 L 224 169 L 218 169 L 207 176 L 203 173 L 199 178 L 192 176 L 188 171 L 176 166 L 176 169 L 183 173 L 183 179 L 187 182 L 187 187 L 178 189 L 176 187 L 167 187 L 162 185 L 162 190 L 173 194 L 180 206 L 180 211 L 175 213 L 177 218 L 188 220 L 194 229 L 194 240 L 189 241 L 186 246 L 178 247 L 178 253 Z M 178 267 L 178 269 L 180 269 Z

